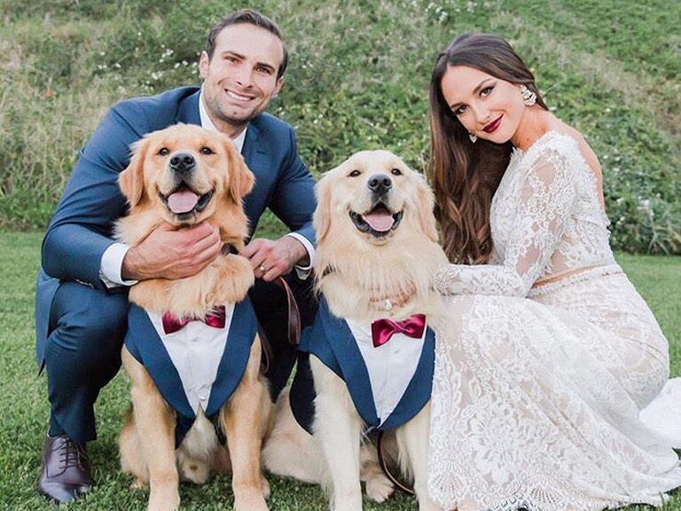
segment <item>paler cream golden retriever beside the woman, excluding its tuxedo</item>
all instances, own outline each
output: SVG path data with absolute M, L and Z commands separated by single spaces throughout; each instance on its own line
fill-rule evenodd
M 441 299 L 434 291 L 433 279 L 436 269 L 447 259 L 437 242 L 433 193 L 423 177 L 393 153 L 356 153 L 322 177 L 317 184 L 317 200 L 314 266 L 317 289 L 330 315 L 348 325 L 367 328 L 377 320 L 397 322 L 415 314 L 424 315 L 427 323 L 434 324 L 441 311 Z M 327 336 L 329 345 L 335 342 L 333 350 L 348 350 L 347 340 Z M 406 343 L 395 347 L 414 341 L 405 337 Z M 369 350 L 371 342 L 370 339 Z M 426 343 L 422 350 L 427 350 Z M 324 483 L 332 493 L 332 509 L 359 511 L 360 474 L 367 459 L 360 444 L 367 424 L 350 395 L 348 383 L 314 351 L 310 351 L 309 366 L 316 392 L 314 436 L 307 435 L 294 421 L 289 397 L 284 394 L 275 409 L 263 463 L 282 476 Z M 376 391 L 373 393 L 378 402 Z M 427 495 L 429 404 L 414 413 L 391 433 L 395 435 L 403 474 L 413 479 L 419 509 L 430 511 L 439 507 Z M 382 489 L 376 487 L 381 484 L 379 477 L 374 474 L 369 479 L 368 493 L 385 492 L 385 484 Z

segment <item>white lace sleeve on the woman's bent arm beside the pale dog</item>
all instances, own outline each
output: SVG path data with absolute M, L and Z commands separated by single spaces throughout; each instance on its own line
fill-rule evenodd
M 435 275 L 435 287 L 442 295 L 527 296 L 541 276 L 575 203 L 575 181 L 566 155 L 551 148 L 524 173 L 509 199 L 513 205 L 505 208 L 513 211 L 513 222 L 504 222 L 513 226 L 513 232 L 501 236 L 506 240 L 502 263 L 448 264 Z

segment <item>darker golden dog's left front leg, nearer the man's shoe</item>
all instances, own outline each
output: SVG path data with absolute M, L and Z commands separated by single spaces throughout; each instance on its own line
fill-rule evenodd
M 175 458 L 175 416 L 156 389 L 152 377 L 129 351 L 121 352 L 132 386 L 132 412 L 142 454 L 149 468 L 149 511 L 172 511 L 180 506 Z

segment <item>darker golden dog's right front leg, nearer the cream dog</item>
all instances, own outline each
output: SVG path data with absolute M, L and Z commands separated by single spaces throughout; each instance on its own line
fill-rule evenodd
M 246 373 L 229 403 L 220 411 L 231 458 L 235 511 L 267 511 L 262 486 L 260 451 L 271 401 L 260 376 L 261 345 L 251 347 Z

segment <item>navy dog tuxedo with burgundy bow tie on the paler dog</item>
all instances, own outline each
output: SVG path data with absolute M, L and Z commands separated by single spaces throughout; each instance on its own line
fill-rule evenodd
M 403 325 L 386 334 L 376 323 L 336 318 L 322 298 L 317 317 L 303 332 L 298 348 L 301 356 L 291 388 L 296 421 L 311 432 L 315 390 L 309 354 L 345 381 L 368 429 L 398 428 L 419 413 L 430 399 L 433 385 L 435 336 L 433 330 L 423 327 L 416 337 L 410 332 L 414 329 L 410 321 Z M 373 337 L 372 327 L 379 330 Z

